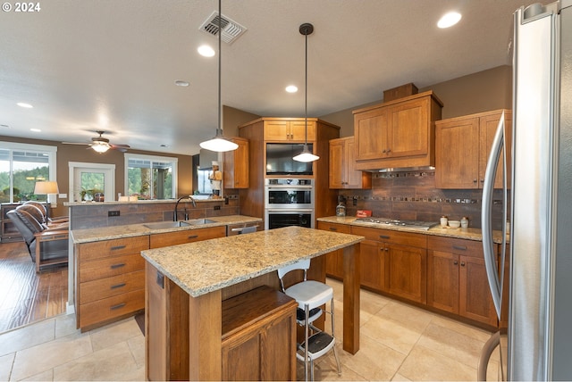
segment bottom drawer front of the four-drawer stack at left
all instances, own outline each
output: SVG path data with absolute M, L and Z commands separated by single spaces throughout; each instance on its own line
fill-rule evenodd
M 145 289 L 80 305 L 80 328 L 130 314 L 145 308 Z

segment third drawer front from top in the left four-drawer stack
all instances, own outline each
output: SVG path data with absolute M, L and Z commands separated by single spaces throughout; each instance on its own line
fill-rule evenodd
M 139 289 L 145 289 L 145 270 L 88 281 L 80 285 L 80 304 L 103 300 Z

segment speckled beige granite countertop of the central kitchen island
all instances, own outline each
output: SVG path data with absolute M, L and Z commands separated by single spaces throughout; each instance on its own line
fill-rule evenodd
M 363 239 L 292 226 L 151 249 L 141 255 L 189 295 L 198 297 Z

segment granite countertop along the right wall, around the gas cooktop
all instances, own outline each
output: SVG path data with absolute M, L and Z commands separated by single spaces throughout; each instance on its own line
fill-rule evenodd
M 407 228 L 407 227 L 399 227 L 399 226 L 390 226 L 390 225 L 380 225 L 378 223 L 368 223 L 362 221 L 356 221 L 357 218 L 355 216 L 329 216 L 324 218 L 318 218 L 318 221 L 324 221 L 327 223 L 338 223 L 338 224 L 348 224 L 350 226 L 357 226 L 357 227 L 370 227 L 370 228 L 380 228 L 380 229 L 391 229 L 403 232 L 412 232 L 416 234 L 423 234 L 423 235 L 431 235 L 431 236 L 438 236 L 438 237 L 454 237 L 454 238 L 461 238 L 466 240 L 475 240 L 475 241 L 483 241 L 483 232 L 481 229 L 478 228 L 442 228 L 441 226 L 437 225 L 433 228 L 429 228 L 427 230 L 418 229 L 418 228 Z M 492 231 L 492 240 L 494 243 L 501 243 L 502 232 L 501 231 Z M 509 242 L 509 238 L 507 237 L 507 243 Z

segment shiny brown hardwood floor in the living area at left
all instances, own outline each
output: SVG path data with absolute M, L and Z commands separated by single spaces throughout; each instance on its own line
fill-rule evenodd
M 68 267 L 36 273 L 23 242 L 0 244 L 0 333 L 62 314 Z

